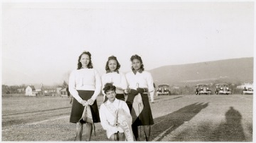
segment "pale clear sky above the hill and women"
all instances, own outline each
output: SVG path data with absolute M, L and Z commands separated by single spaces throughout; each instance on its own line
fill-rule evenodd
M 253 57 L 253 2 L 2 3 L 2 83 L 68 81 L 90 51 L 102 74 L 115 55 L 145 70 Z

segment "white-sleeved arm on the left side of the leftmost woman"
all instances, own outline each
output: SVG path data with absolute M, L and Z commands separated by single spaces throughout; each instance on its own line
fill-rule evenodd
M 79 96 L 79 92 L 76 90 L 75 72 L 70 73 L 68 89 L 73 98 L 78 100 L 79 103 L 83 101 L 83 99 Z

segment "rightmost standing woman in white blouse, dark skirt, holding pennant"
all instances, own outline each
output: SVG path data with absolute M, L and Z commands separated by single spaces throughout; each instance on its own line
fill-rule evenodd
M 149 141 L 150 125 L 154 124 L 148 100 L 148 92 L 154 91 L 153 78 L 149 72 L 144 71 L 143 60 L 137 54 L 131 56 L 131 72 L 126 73 L 128 82 L 127 105 L 133 118 L 132 131 L 138 140 L 138 126 L 143 126 L 146 141 Z M 141 104 L 137 106 L 135 103 Z

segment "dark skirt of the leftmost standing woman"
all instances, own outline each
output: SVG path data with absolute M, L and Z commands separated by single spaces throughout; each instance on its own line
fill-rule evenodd
M 78 90 L 79 96 L 83 100 L 89 100 L 92 94 L 94 94 L 94 91 L 86 91 L 86 90 Z M 93 105 L 90 106 L 90 111 L 92 114 L 92 119 L 94 123 L 101 122 L 99 110 L 97 106 L 97 100 L 94 101 Z M 73 105 L 71 109 L 70 114 L 70 123 L 78 123 L 80 118 L 82 117 L 82 114 L 84 112 L 84 106 L 82 106 L 75 98 L 73 99 Z

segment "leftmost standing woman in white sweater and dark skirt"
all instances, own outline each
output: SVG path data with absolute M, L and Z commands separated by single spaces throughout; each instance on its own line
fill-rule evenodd
M 102 89 L 101 77 L 93 69 L 90 52 L 84 51 L 79 55 L 78 68 L 71 72 L 69 77 L 69 92 L 73 95 L 73 105 L 70 115 L 70 123 L 77 123 L 76 140 L 82 139 L 82 117 L 84 106 L 90 106 L 93 123 L 99 123 L 99 111 L 96 98 Z M 92 123 L 85 123 L 86 140 L 90 140 Z

